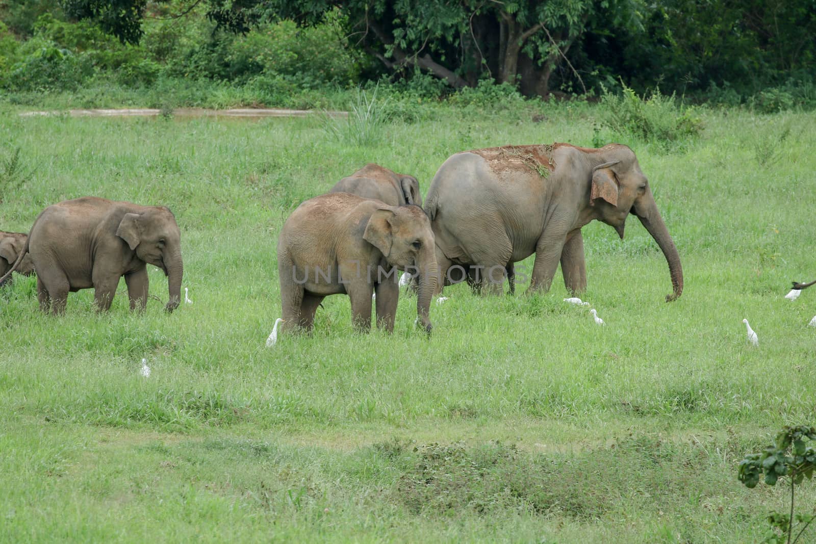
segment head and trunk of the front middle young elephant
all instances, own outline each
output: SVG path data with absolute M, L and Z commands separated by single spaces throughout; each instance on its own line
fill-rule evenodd
M 393 267 L 415 267 L 421 281 L 416 312 L 431 332 L 428 313 L 437 288 L 437 257 L 431 222 L 419 206 L 383 206 L 371 214 L 363 238 L 374 245 Z

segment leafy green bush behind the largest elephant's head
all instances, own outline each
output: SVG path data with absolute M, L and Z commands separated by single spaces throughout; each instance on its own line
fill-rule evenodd
M 674 94 L 663 95 L 659 88 L 647 98 L 623 84 L 619 95 L 605 91 L 601 105 L 601 124 L 616 135 L 631 135 L 665 146 L 694 138 L 703 130 L 703 122 L 693 108 L 678 106 Z

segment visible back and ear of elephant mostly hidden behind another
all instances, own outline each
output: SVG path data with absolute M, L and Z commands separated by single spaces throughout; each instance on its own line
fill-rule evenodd
M 414 176 L 397 174 L 373 162 L 340 179 L 329 192 L 348 192 L 358 197 L 375 198 L 388 206 L 422 206 L 419 182 Z

